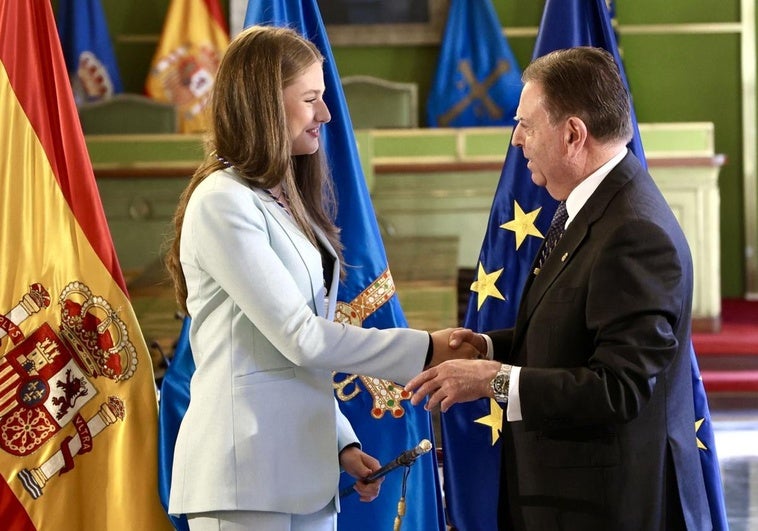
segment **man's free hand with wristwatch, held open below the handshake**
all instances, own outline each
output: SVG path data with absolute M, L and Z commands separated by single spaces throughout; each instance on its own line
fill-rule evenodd
M 499 361 L 450 360 L 427 369 L 405 386 L 412 391 L 411 403 L 416 406 L 424 397 L 429 401 L 424 406 L 431 410 L 438 404 L 443 412 L 459 402 L 477 398 L 493 397 L 490 382 L 500 370 Z

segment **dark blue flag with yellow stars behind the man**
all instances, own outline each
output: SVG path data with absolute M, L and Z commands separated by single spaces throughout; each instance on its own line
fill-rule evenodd
M 628 87 L 605 0 L 546 1 L 532 58 L 574 46 L 612 53 Z M 628 147 L 644 165 L 633 109 L 632 120 L 634 137 Z M 556 204 L 532 183 L 521 149 L 509 146 L 471 285 L 466 327 L 486 331 L 513 326 L 521 290 Z M 490 400 L 459 404 L 442 415 L 445 499 L 450 524 L 460 531 L 497 529 L 493 493 L 500 480 L 498 428 L 503 416 L 502 408 Z

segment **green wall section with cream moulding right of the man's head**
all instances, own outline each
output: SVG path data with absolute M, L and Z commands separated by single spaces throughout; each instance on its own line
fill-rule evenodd
M 638 120 L 709 121 L 715 125 L 716 151 L 727 156 L 719 178 L 722 294 L 742 296 L 745 238 L 740 36 L 623 34 L 623 25 L 739 22 L 739 0 L 635 0 L 619 1 L 617 6 Z

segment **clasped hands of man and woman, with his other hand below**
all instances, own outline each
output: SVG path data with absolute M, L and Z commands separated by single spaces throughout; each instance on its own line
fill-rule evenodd
M 487 359 L 487 340 L 466 328 L 446 328 L 432 332 L 432 360 L 424 372 L 405 386 L 413 392 L 415 406 L 429 397 L 427 410 L 439 405 L 442 411 L 458 402 L 493 397 L 490 382 L 500 370 L 500 362 Z

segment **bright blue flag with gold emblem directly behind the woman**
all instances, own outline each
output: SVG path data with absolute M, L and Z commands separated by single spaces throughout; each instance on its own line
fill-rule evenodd
M 348 275 L 339 290 L 337 318 L 364 327 L 406 326 L 387 266 L 379 227 L 358 158 L 345 96 L 316 0 L 251 0 L 245 26 L 269 23 L 290 26 L 316 44 L 326 58 L 324 99 L 332 121 L 323 128 L 326 150 L 339 200 Z M 386 463 L 422 439 L 433 440 L 431 416 L 411 405 L 401 386 L 357 375 L 336 374 L 335 393 L 363 448 Z M 402 490 L 402 471 L 385 477 L 382 493 L 371 503 L 348 496 L 341 501 L 338 527 L 346 531 L 392 529 Z M 352 483 L 343 474 L 341 488 Z M 404 529 L 444 530 L 442 494 L 434 452 L 410 469 L 405 492 Z

